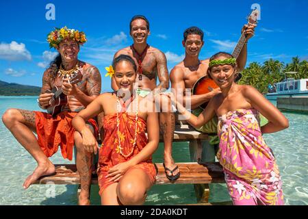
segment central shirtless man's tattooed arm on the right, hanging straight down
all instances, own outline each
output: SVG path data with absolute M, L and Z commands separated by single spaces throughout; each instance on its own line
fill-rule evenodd
M 162 51 L 157 50 L 156 60 L 157 60 L 157 75 L 159 79 L 159 85 L 156 88 L 168 89 L 169 75 L 168 75 L 166 55 Z

